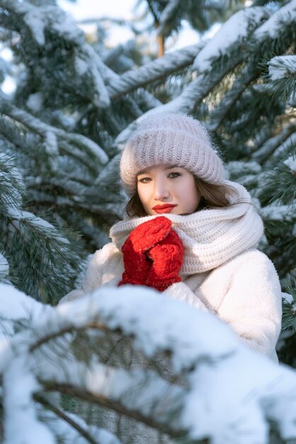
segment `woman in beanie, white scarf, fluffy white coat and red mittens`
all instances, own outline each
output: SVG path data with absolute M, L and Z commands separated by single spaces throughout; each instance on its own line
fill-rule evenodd
M 120 177 L 127 215 L 93 255 L 82 289 L 139 284 L 215 313 L 250 348 L 277 360 L 281 293 L 257 250 L 263 223 L 225 170 L 205 128 L 184 114 L 144 118 L 128 141 Z

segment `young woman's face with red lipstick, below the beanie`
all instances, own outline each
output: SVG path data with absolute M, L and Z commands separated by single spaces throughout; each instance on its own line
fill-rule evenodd
M 139 172 L 137 192 L 149 216 L 191 214 L 200 202 L 193 174 L 173 165 L 158 165 Z

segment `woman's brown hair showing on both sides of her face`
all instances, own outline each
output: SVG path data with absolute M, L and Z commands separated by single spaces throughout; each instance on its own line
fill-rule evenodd
M 203 209 L 227 208 L 227 206 L 241 203 L 241 200 L 238 199 L 239 196 L 237 194 L 237 190 L 234 189 L 234 187 L 232 187 L 231 185 L 208 184 L 207 182 L 204 182 L 202 179 L 196 176 L 194 176 L 194 181 L 195 186 L 201 196 L 198 208 L 195 211 L 200 211 Z M 231 203 L 227 196 L 237 196 L 237 200 Z M 147 216 L 147 213 L 144 210 L 144 206 L 140 201 L 140 197 L 137 191 L 127 202 L 125 211 L 127 213 L 127 216 L 130 217 Z

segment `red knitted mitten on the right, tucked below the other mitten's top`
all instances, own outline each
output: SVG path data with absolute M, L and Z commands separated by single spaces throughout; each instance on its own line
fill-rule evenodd
M 179 272 L 182 267 L 184 248 L 176 231 L 169 232 L 164 240 L 147 252 L 152 260 L 146 285 L 163 292 L 174 282 L 181 282 Z

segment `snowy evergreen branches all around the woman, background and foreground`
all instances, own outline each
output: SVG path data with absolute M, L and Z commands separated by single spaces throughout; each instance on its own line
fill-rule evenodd
M 100 421 L 119 412 L 159 443 L 296 442 L 296 0 L 139 4 L 135 38 L 108 47 L 110 18 L 86 34 L 56 0 L 0 0 L 0 81 L 16 83 L 0 89 L 0 440 L 116 444 Z M 184 21 L 200 43 L 168 51 Z M 206 124 L 260 208 L 283 286 L 279 366 L 152 289 L 55 308 L 123 214 L 135 121 L 164 110 Z

